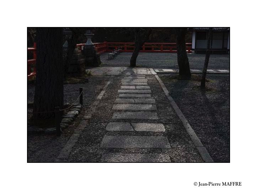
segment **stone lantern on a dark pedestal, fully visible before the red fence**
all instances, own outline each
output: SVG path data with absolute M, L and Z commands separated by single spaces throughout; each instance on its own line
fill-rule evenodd
M 101 64 L 100 55 L 97 53 L 95 46 L 91 41 L 91 38 L 94 36 L 91 32 L 91 28 L 86 29 L 85 36 L 87 38 L 87 42 L 85 43 L 83 50 L 85 63 L 90 66 L 99 66 Z

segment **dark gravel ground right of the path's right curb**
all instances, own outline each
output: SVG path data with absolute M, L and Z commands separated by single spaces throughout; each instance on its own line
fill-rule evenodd
M 229 75 L 207 74 L 210 81 L 203 92 L 199 81 L 170 79 L 174 74 L 159 76 L 214 162 L 230 162 Z

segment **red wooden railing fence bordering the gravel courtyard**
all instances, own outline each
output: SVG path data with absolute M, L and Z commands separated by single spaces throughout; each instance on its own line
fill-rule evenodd
M 85 43 L 77 44 L 76 47 L 82 50 Z M 122 52 L 133 52 L 134 43 L 94 43 L 97 53 L 102 54 L 105 52 L 112 52 L 114 49 L 122 49 Z M 186 43 L 187 53 L 191 53 L 192 43 Z M 28 52 L 33 52 L 33 59 L 27 61 L 27 76 L 31 79 L 36 76 L 36 43 L 33 48 L 27 48 Z M 151 53 L 177 53 L 176 43 L 144 43 L 140 52 L 151 52 Z

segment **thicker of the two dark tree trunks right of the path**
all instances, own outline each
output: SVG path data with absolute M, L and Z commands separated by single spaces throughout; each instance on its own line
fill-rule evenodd
M 177 60 L 179 67 L 179 74 L 184 78 L 190 78 L 190 66 L 187 57 L 186 51 L 186 33 L 187 28 L 181 27 L 176 29 L 176 38 L 177 38 Z

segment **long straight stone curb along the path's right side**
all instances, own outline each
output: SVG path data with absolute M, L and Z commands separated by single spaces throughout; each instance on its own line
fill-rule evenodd
M 201 143 L 200 139 L 197 137 L 196 133 L 194 132 L 193 128 L 190 126 L 188 123 L 186 117 L 183 115 L 181 112 L 180 108 L 176 105 L 174 99 L 170 96 L 169 91 L 166 89 L 166 86 L 162 82 L 162 80 L 159 78 L 158 75 L 155 75 L 156 79 L 158 80 L 160 86 L 162 87 L 162 90 L 164 91 L 166 97 L 168 100 L 171 102 L 172 107 L 174 108 L 176 114 L 180 118 L 183 127 L 186 129 L 188 135 L 190 136 L 193 144 L 196 146 L 199 154 L 201 155 L 202 159 L 204 162 L 214 162 L 213 159 L 211 158 L 210 154 L 208 153 L 207 149 L 203 146 Z

